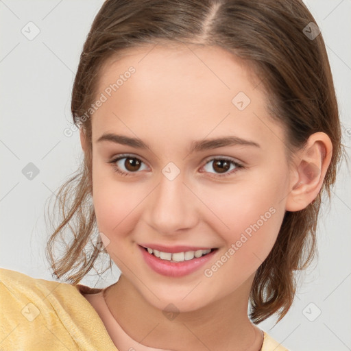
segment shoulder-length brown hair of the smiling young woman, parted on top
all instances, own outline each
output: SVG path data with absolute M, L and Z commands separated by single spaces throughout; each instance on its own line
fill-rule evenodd
M 76 122 L 97 96 L 101 67 L 122 50 L 162 41 L 217 45 L 255 70 L 267 92 L 272 117 L 285 125 L 289 147 L 302 147 L 315 132 L 328 134 L 332 158 L 322 190 L 303 210 L 285 213 L 278 239 L 256 271 L 250 293 L 250 318 L 256 324 L 274 313 L 279 321 L 289 310 L 296 291 L 294 272 L 306 268 L 315 256 L 321 196 L 327 191 L 330 198 L 341 158 L 330 65 L 322 34 L 306 35 L 304 28 L 311 33 L 311 22 L 315 23 L 313 16 L 299 0 L 107 0 L 86 38 L 73 86 L 71 110 Z M 94 267 L 101 254 L 100 245 L 90 245 L 97 234 L 91 202 L 90 118 L 81 124 L 88 149 L 81 168 L 58 192 L 62 220 L 47 243 L 53 275 L 60 278 L 71 272 L 68 280 L 73 284 Z M 56 260 L 53 245 L 66 229 L 74 239 Z M 111 265 L 110 258 L 108 268 Z

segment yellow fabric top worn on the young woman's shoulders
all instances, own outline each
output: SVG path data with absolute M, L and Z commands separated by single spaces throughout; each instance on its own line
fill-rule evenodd
M 82 295 L 99 291 L 0 268 L 0 350 L 118 351 Z M 264 332 L 261 351 L 273 350 L 288 351 Z

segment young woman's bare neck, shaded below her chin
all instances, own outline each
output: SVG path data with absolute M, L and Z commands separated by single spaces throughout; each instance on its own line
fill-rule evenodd
M 179 351 L 258 351 L 263 333 L 247 317 L 253 278 L 226 298 L 169 317 L 149 304 L 123 274 L 107 289 L 105 300 L 121 328 L 145 346 Z

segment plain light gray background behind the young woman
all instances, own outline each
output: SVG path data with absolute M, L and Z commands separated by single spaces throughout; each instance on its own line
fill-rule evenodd
M 102 0 L 0 0 L 1 245 L 0 267 L 53 280 L 45 258 L 45 204 L 82 160 L 79 134 L 71 126 L 71 88 L 82 45 Z M 341 121 L 350 147 L 351 1 L 308 0 L 326 41 Z M 40 30 L 28 40 L 32 21 Z M 30 34 L 35 34 L 31 25 Z M 349 149 L 348 149 L 349 152 Z M 29 162 L 39 170 L 29 180 Z M 29 166 L 27 166 L 29 167 Z M 34 173 L 35 174 L 35 173 Z M 350 171 L 343 162 L 318 227 L 319 259 L 299 278 L 298 294 L 287 316 L 263 330 L 291 351 L 351 350 Z M 119 270 L 83 284 L 106 287 Z M 320 315 L 319 315 L 320 313 Z M 273 328 L 274 327 L 274 328 Z

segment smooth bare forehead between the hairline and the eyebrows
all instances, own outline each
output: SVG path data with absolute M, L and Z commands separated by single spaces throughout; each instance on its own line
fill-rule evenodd
M 106 101 L 93 114 L 93 137 L 123 130 L 152 140 L 157 130 L 178 140 L 224 131 L 271 138 L 263 123 L 267 106 L 259 83 L 250 64 L 220 47 L 128 49 L 101 69 L 97 95 L 104 94 Z

